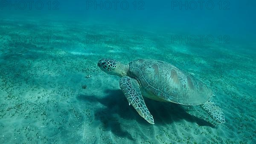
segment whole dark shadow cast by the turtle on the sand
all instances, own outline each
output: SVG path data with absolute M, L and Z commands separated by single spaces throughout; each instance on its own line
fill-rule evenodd
M 135 119 L 139 124 L 151 125 L 132 106 L 128 105 L 128 101 L 121 90 L 107 89 L 105 93 L 106 95 L 103 98 L 99 98 L 96 95 L 80 95 L 78 97 L 79 101 L 86 101 L 92 105 L 103 105 L 94 109 L 94 117 L 104 124 L 105 130 L 111 130 L 116 136 L 134 140 L 132 135 L 120 126 L 122 123 L 120 118 L 126 120 Z M 155 125 L 171 124 L 184 119 L 185 121 L 195 122 L 199 126 L 215 127 L 204 119 L 190 115 L 179 104 L 159 102 L 148 98 L 144 98 L 144 100 L 155 119 Z M 119 115 L 119 117 L 116 115 Z

